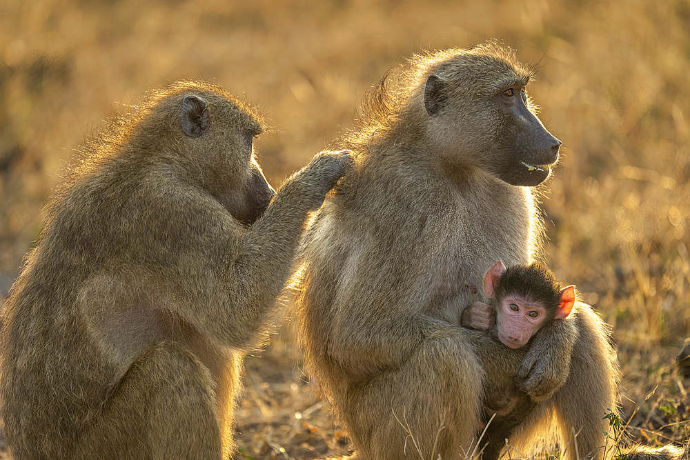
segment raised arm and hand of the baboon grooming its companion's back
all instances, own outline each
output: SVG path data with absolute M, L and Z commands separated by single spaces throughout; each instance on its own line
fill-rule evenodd
M 170 302 L 209 339 L 248 350 L 262 339 L 275 299 L 290 276 L 297 244 L 309 212 L 322 205 L 349 164 L 346 152 L 322 152 L 286 179 L 270 205 L 250 228 L 242 226 L 221 204 L 199 188 L 172 188 L 155 200 L 155 213 L 175 246 L 166 252 L 168 279 L 186 279 L 190 286 L 169 286 L 184 302 Z M 172 206 L 166 203 L 175 203 Z M 185 216 L 179 216 L 181 213 Z M 176 215 L 177 214 L 177 215 Z M 190 215 L 192 214 L 192 215 Z M 175 229 L 170 222 L 188 223 Z M 154 256 L 161 259 L 161 249 Z M 161 261 L 164 262 L 164 261 Z M 201 272 L 201 276 L 199 274 Z M 199 282 L 199 279 L 204 281 Z M 166 282 L 164 280 L 163 282 Z

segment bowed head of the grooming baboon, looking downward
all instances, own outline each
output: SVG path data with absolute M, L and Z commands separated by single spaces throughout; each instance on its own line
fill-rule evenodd
M 173 136 L 190 176 L 213 194 L 235 219 L 253 223 L 275 191 L 266 181 L 253 151 L 262 120 L 249 107 L 220 88 L 177 89 L 170 98 Z

